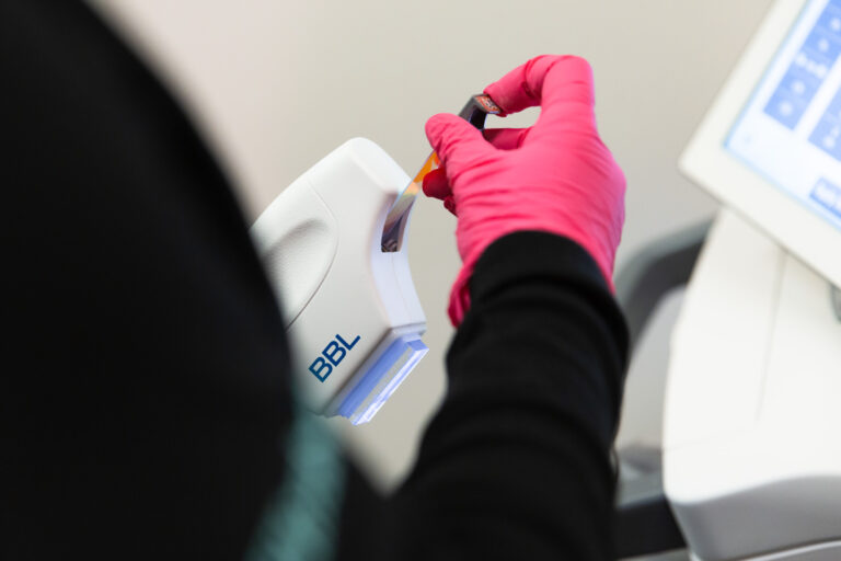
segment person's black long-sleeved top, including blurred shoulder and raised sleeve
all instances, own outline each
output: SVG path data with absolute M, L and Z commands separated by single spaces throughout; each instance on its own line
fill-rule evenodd
M 153 77 L 76 2 L 0 2 L 0 559 L 610 559 L 627 343 L 583 249 L 487 249 L 381 497 L 296 409 L 231 190 Z

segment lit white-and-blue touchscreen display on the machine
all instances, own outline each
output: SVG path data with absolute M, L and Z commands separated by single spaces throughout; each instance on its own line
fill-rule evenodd
M 841 0 L 806 3 L 725 147 L 841 229 Z

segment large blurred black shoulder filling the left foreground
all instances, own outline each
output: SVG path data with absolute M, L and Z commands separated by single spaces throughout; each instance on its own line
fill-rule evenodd
M 290 396 L 228 183 L 80 2 L 0 2 L 0 559 L 237 559 Z

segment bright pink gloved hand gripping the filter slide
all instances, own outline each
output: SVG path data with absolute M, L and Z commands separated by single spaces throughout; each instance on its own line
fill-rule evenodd
M 602 144 L 594 115 L 592 70 L 572 56 L 542 56 L 485 88 L 505 114 L 540 105 L 534 126 L 487 129 L 456 115 L 426 123 L 441 168 L 424 192 L 458 216 L 462 268 L 450 293 L 458 327 L 470 308 L 469 280 L 482 252 L 519 230 L 571 238 L 596 260 L 613 288 L 624 222 L 625 178 Z

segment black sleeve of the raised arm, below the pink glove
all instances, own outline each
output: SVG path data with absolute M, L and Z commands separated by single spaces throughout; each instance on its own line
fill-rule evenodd
M 390 505 L 394 559 L 612 558 L 627 337 L 592 259 L 543 232 L 483 254 L 449 388 Z

